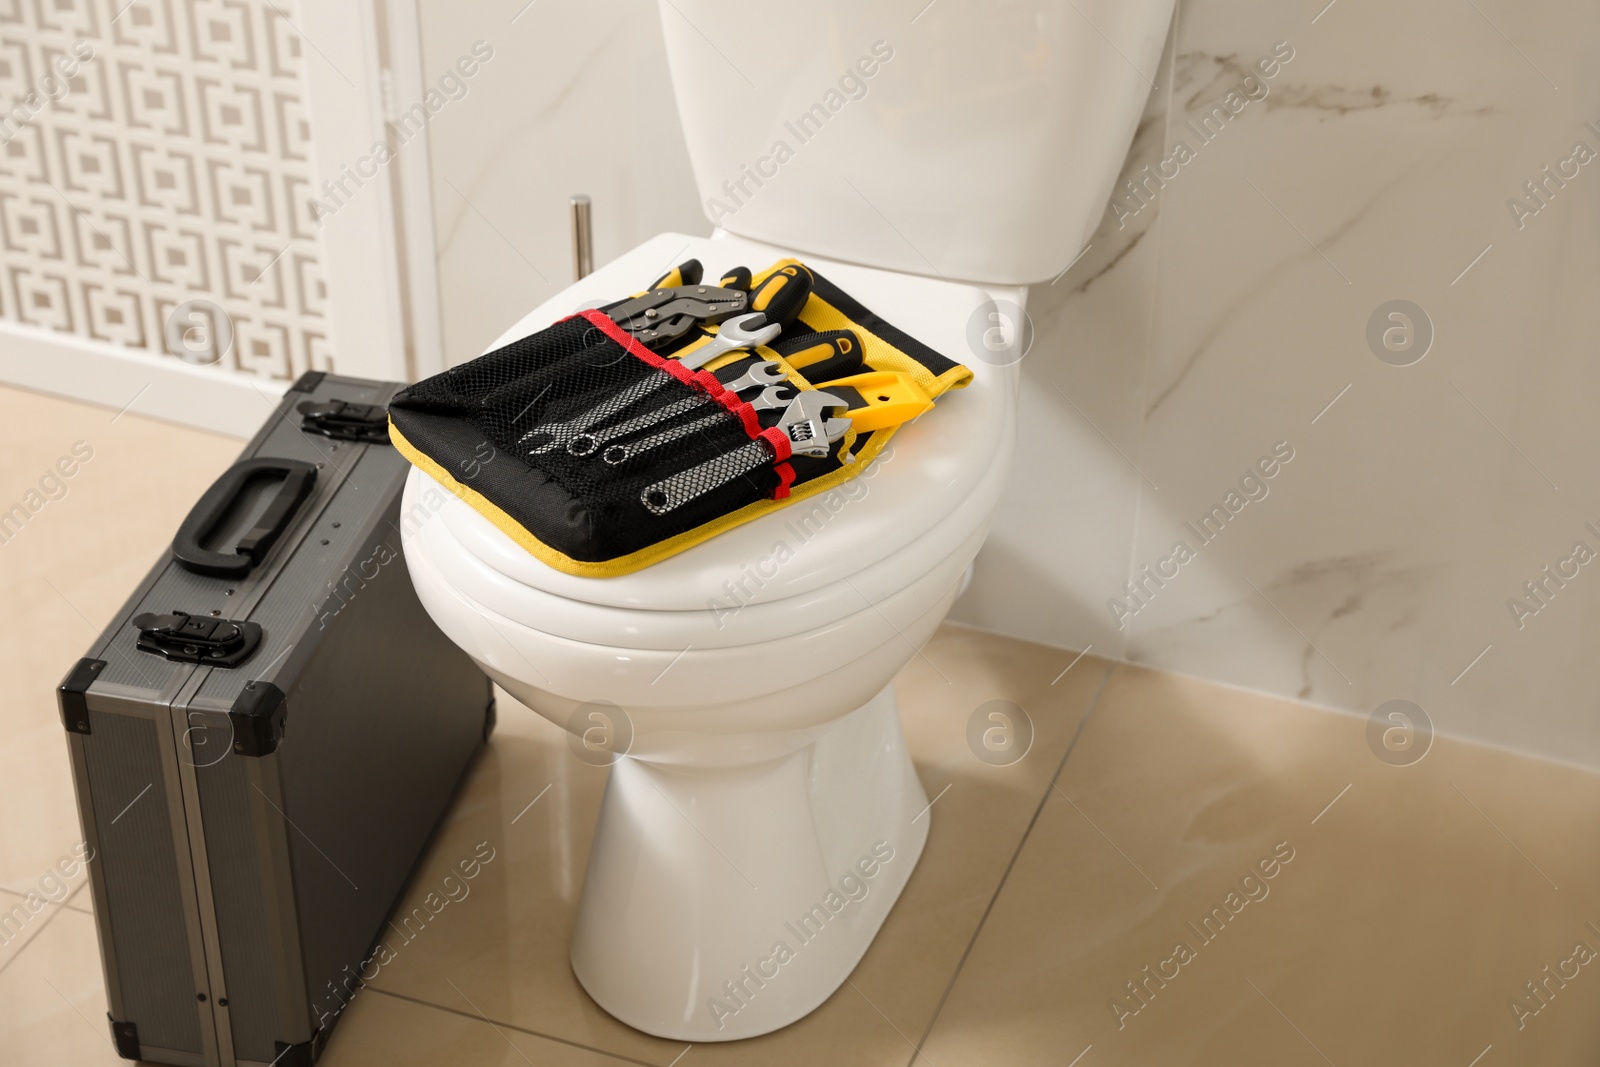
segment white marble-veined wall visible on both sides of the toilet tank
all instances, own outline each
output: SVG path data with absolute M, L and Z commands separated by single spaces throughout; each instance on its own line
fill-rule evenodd
M 654 3 L 422 6 L 429 70 L 496 50 L 430 125 L 453 362 L 568 282 L 568 194 L 595 198 L 598 261 L 707 230 Z M 1573 542 L 1600 552 L 1600 160 L 1520 230 L 1506 206 L 1600 150 L 1597 19 L 1179 0 L 1126 174 L 1194 158 L 1032 290 L 1018 467 L 954 617 L 1362 713 L 1411 699 L 1600 766 L 1600 565 L 1520 630 L 1507 609 Z M 1267 96 L 1202 146 L 1186 122 L 1277 42 Z M 1368 349 L 1390 299 L 1434 323 L 1413 366 Z M 1200 545 L 1184 523 L 1277 442 L 1269 494 Z M 1178 539 L 1197 558 L 1118 627 L 1107 600 L 1134 606 L 1123 582 Z

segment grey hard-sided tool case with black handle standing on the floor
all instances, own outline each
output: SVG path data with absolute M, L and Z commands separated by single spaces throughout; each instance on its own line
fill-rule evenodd
M 406 574 L 398 389 L 301 378 L 61 685 L 125 1057 L 315 1061 L 493 726 Z

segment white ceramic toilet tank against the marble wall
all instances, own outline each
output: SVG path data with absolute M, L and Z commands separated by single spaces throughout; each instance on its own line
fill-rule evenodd
M 659 8 L 712 222 L 872 267 L 1026 285 L 1056 277 L 1099 224 L 1173 0 Z

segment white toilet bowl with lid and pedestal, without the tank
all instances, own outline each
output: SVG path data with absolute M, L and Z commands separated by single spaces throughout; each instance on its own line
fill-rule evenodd
M 723 269 L 779 254 L 669 234 L 584 290 L 624 291 L 686 256 Z M 990 299 L 811 262 L 891 322 L 915 312 L 944 352 Z M 506 339 L 581 302 L 574 286 Z M 973 374 L 858 478 L 614 579 L 539 563 L 411 472 L 402 530 L 429 614 L 539 715 L 627 737 L 571 961 L 629 1025 L 704 1041 L 798 1019 L 850 974 L 915 867 L 928 798 L 890 681 L 954 601 L 1011 458 L 1016 366 Z M 774 960 L 779 942 L 792 960 Z

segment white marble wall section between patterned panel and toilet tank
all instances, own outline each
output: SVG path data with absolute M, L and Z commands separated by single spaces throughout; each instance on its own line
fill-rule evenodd
M 571 283 L 573 194 L 594 200 L 597 266 L 664 230 L 710 232 L 651 0 L 421 6 L 429 85 L 474 42 L 494 50 L 429 123 L 448 362 Z

